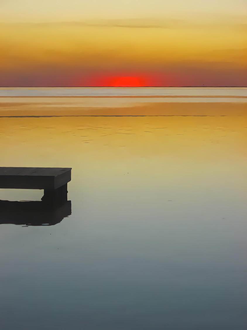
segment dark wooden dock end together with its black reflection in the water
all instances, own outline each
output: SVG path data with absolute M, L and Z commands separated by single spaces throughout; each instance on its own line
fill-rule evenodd
M 0 167 L 0 188 L 44 189 L 41 201 L 0 200 L 0 224 L 55 225 L 71 215 L 71 168 Z

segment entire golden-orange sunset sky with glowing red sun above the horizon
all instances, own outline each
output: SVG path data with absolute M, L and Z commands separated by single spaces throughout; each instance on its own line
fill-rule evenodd
M 0 0 L 0 86 L 246 86 L 245 0 Z

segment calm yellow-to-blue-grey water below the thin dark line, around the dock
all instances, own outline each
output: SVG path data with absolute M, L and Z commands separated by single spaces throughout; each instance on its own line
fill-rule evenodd
M 1 166 L 72 167 L 69 217 L 0 225 L 2 330 L 246 329 L 247 116 L 0 123 Z

